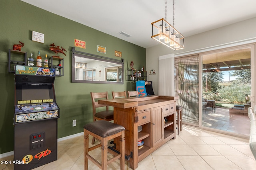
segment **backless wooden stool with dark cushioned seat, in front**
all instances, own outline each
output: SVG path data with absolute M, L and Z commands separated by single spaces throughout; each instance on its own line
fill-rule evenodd
M 120 169 L 124 170 L 124 130 L 121 125 L 111 123 L 109 121 L 99 120 L 84 125 L 84 169 L 88 170 L 88 159 L 96 164 L 102 170 L 107 170 L 107 165 L 120 158 Z M 99 139 L 100 144 L 89 148 L 89 135 Z M 119 153 L 108 149 L 108 141 L 119 137 L 120 150 Z M 89 155 L 89 151 L 101 147 L 101 163 Z M 108 160 L 108 152 L 114 155 Z

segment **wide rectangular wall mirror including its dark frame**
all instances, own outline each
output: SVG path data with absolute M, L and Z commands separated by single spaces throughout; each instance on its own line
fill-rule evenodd
M 75 51 L 73 47 L 72 82 L 124 84 L 124 60 Z

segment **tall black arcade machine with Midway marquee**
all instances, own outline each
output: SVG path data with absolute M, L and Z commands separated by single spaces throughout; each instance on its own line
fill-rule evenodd
M 57 160 L 54 68 L 15 66 L 14 170 Z

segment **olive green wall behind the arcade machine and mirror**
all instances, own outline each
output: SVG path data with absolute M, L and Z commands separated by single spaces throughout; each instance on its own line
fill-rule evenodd
M 88 15 L 86 12 L 83 15 Z M 111 35 L 102 33 L 80 23 L 52 14 L 20 0 L 1 0 L 0 2 L 0 154 L 13 150 L 14 131 L 14 74 L 8 73 L 8 50 L 13 44 L 23 42 L 22 51 L 28 55 L 54 55 L 49 45 L 54 43 L 66 48 L 64 58 L 64 76 L 56 77 L 56 101 L 60 107 L 58 119 L 58 138 L 83 131 L 83 125 L 92 121 L 92 102 L 90 92 L 135 90 L 135 84 L 126 81 L 127 69 L 134 61 L 134 68 L 146 66 L 146 49 L 128 43 Z M 44 43 L 32 41 L 32 31 L 44 33 Z M 86 49 L 76 47 L 77 51 L 120 59 L 114 51 L 121 51 L 124 59 L 124 84 L 88 84 L 71 83 L 71 49 L 74 39 L 86 41 Z M 106 54 L 97 52 L 97 45 L 106 47 Z M 76 119 L 76 127 L 72 120 Z M 40 127 L 38 127 L 40 128 Z

